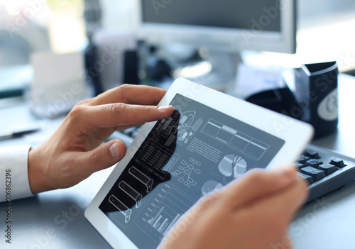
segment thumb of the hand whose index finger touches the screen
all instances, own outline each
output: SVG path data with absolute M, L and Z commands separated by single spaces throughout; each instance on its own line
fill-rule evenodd
M 126 155 L 126 145 L 122 140 L 114 139 L 103 143 L 94 150 L 82 153 L 82 162 L 91 173 L 104 170 L 119 162 Z

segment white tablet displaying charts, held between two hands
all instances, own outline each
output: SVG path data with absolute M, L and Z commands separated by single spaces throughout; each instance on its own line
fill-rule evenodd
M 312 126 L 186 79 L 146 123 L 85 211 L 113 248 L 156 248 L 202 196 L 256 167 L 295 161 Z

